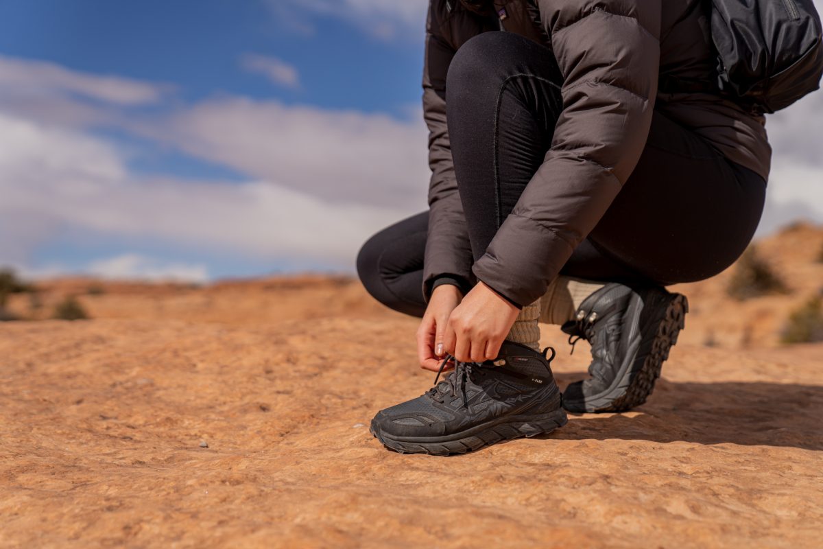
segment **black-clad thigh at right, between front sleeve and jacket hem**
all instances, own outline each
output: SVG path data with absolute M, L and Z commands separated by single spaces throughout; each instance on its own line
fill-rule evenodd
M 746 249 L 764 201 L 759 175 L 655 111 L 637 167 L 589 240 L 658 283 L 703 280 Z

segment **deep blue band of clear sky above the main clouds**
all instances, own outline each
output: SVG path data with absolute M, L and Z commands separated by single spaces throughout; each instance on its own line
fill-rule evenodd
M 338 16 L 306 13 L 299 2 L 277 3 L 282 6 L 232 0 L 5 0 L 0 51 L 84 72 L 174 83 L 180 98 L 189 101 L 228 93 L 394 114 L 417 104 L 422 17 L 418 32 L 403 28 L 396 39 L 380 40 Z M 282 11 L 291 11 L 291 20 Z M 242 70 L 238 58 L 247 53 L 299 67 L 300 89 L 272 86 Z

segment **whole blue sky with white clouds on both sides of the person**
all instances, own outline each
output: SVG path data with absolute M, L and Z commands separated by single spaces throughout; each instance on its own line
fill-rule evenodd
M 353 272 L 425 209 L 425 0 L 0 0 L 0 265 Z M 823 220 L 823 95 L 770 119 L 761 232 Z M 774 128 L 774 129 L 773 129 Z

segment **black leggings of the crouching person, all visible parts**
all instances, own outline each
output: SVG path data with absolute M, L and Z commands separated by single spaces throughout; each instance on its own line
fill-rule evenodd
M 478 63 L 485 70 L 475 70 Z M 515 74 L 528 76 L 509 78 Z M 469 40 L 449 67 L 449 137 L 475 260 L 551 147 L 561 99 L 549 82 L 560 78 L 551 50 L 504 32 Z M 760 175 L 655 110 L 635 170 L 561 273 L 660 285 L 712 277 L 751 241 L 765 187 Z M 414 316 L 425 311 L 427 227 L 428 212 L 399 221 L 357 257 L 370 294 Z

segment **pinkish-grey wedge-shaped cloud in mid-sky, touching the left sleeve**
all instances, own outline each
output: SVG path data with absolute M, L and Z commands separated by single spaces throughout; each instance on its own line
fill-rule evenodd
M 422 120 L 245 98 L 207 100 L 138 131 L 323 201 L 425 209 Z

